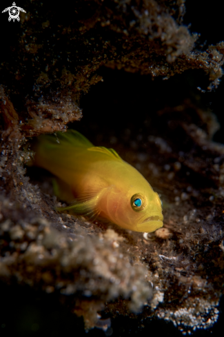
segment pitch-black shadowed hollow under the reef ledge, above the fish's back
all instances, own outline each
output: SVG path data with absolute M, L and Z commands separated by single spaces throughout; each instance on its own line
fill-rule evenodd
M 155 165 L 166 164 L 167 153 L 159 152 L 154 142 L 149 142 L 150 136 L 163 139 L 177 154 L 196 150 L 181 123 L 195 124 L 208 131 L 200 111 L 210 110 L 211 94 L 197 90 L 209 84 L 204 72 L 187 70 L 167 81 L 108 68 L 101 68 L 98 73 L 103 82 L 82 96 L 83 118 L 69 127 L 83 133 L 94 145 L 114 148 L 127 161 L 125 152 L 131 149 L 143 154 L 139 155 L 142 162 L 144 154 L 148 154 Z M 170 164 L 175 161 L 170 159 Z M 186 171 L 178 172 L 179 177 L 186 179 Z M 197 188 L 205 183 L 213 185 L 191 170 L 187 181 Z

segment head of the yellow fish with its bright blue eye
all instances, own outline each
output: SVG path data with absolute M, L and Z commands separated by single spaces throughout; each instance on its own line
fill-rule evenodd
M 162 202 L 158 193 L 150 185 L 141 192 L 129 191 L 116 210 L 116 223 L 135 232 L 154 232 L 163 227 Z

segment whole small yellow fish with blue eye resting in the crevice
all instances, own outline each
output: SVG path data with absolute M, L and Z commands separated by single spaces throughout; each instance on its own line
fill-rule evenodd
M 61 180 L 59 197 L 74 214 L 108 219 L 136 232 L 163 226 L 159 195 L 113 149 L 95 147 L 75 130 L 38 137 L 34 165 Z

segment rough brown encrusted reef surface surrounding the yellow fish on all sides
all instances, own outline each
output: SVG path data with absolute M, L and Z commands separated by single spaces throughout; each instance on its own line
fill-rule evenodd
M 210 329 L 224 281 L 222 108 L 220 123 L 209 108 L 223 43 L 200 45 L 183 25 L 184 1 L 22 7 L 20 22 L 3 13 L 1 23 L 1 331 Z M 147 178 L 163 228 L 142 234 L 55 211 L 52 176 L 27 165 L 30 143 L 68 126 Z

